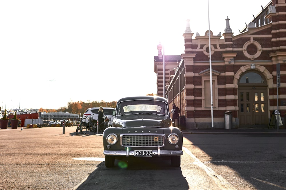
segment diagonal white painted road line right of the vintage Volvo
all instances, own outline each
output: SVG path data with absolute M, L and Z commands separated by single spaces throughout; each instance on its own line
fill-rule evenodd
M 219 186 L 219 188 L 221 188 L 222 190 L 236 190 L 236 188 L 233 187 L 231 183 L 229 183 L 225 178 L 213 171 L 210 167 L 204 165 L 204 163 L 202 163 L 198 158 L 196 158 L 196 156 L 194 156 L 192 152 L 189 151 L 186 147 L 183 147 L 183 151 L 195 160 L 192 164 L 195 164 L 198 167 L 204 169 L 208 176 L 210 176 L 210 178 L 212 178 L 212 180 Z

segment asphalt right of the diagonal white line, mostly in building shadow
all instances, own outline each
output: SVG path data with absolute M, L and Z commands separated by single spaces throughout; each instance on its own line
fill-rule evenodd
M 183 146 L 234 187 L 285 189 L 286 134 L 248 131 L 184 134 L 190 142 Z

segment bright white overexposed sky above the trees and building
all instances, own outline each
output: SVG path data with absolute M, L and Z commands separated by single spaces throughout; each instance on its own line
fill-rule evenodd
M 227 17 L 235 36 L 269 2 L 0 1 L 0 106 L 59 109 L 156 94 L 157 45 L 184 53 L 187 19 L 193 39 L 209 25 L 223 34 Z

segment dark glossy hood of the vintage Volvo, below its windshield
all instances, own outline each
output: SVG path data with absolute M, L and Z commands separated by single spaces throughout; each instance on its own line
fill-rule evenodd
M 161 115 L 124 115 L 116 118 L 116 126 L 132 128 L 132 127 L 169 127 L 171 119 L 168 116 Z

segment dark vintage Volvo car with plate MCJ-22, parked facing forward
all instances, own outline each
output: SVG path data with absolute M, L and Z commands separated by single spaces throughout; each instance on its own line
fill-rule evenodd
M 105 166 L 113 167 L 115 159 L 122 157 L 164 157 L 179 167 L 182 144 L 182 131 L 172 126 L 165 98 L 122 98 L 117 102 L 112 127 L 103 132 Z

